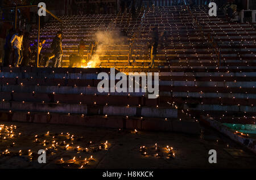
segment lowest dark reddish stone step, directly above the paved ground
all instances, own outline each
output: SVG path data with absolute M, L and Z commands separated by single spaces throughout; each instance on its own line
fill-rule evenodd
M 84 127 L 106 127 L 144 131 L 174 131 L 188 134 L 200 134 L 199 122 L 179 121 L 177 118 L 126 118 L 123 116 L 84 115 L 61 113 L 24 113 L 0 112 L 1 121 L 6 122 L 31 122 L 57 125 L 78 125 Z

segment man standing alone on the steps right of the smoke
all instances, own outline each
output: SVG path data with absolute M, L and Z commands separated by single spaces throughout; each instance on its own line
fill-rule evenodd
M 151 58 L 151 64 L 150 67 L 155 68 L 155 57 L 158 52 L 158 28 L 154 27 L 152 29 L 152 32 L 150 33 L 151 43 L 150 43 L 150 58 Z

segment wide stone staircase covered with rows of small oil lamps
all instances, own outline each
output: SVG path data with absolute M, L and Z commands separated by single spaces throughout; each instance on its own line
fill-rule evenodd
M 129 41 L 105 46 L 98 68 L 2 68 L 1 117 L 10 121 L 199 132 L 200 117 L 255 125 L 255 24 L 209 17 L 208 7 L 171 6 L 118 15 L 62 16 L 63 67 L 85 38 L 86 59 L 93 33 L 125 30 Z M 111 25 L 110 25 L 111 24 Z M 42 36 L 51 44 L 60 25 L 48 23 Z M 150 64 L 150 29 L 167 37 Z M 35 35 L 32 38 L 36 39 Z M 33 40 L 34 42 L 34 40 Z M 130 61 L 129 61 L 130 60 Z M 159 97 L 147 93 L 98 93 L 100 72 L 158 72 Z M 141 85 L 141 83 L 140 83 Z

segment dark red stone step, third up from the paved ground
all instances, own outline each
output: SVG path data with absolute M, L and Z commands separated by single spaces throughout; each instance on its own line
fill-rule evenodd
M 148 99 L 139 96 L 101 96 L 84 94 L 52 94 L 52 93 L 26 93 L 26 92 L 0 92 L 0 101 L 19 102 L 54 102 L 62 104 L 86 105 L 125 105 L 125 106 L 152 106 L 159 105 L 159 99 Z M 122 99 L 122 101 L 120 101 Z M 167 103 L 166 103 L 167 105 Z M 159 106 L 162 107 L 162 106 Z

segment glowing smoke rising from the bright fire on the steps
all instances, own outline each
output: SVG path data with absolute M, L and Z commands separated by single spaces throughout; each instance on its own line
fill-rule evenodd
M 96 41 L 96 50 L 88 62 L 88 67 L 99 67 L 101 64 L 101 59 L 103 55 L 107 53 L 110 55 L 112 50 L 110 47 L 113 45 L 127 44 L 129 38 L 125 35 L 123 31 L 119 29 L 112 29 L 111 31 L 97 31 L 94 35 Z M 120 47 L 118 46 L 118 49 Z

